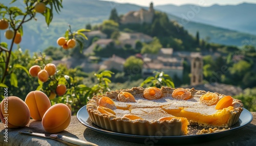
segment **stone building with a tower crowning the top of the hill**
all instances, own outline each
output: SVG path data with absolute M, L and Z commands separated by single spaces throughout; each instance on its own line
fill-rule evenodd
M 140 9 L 139 11 L 130 11 L 126 13 L 122 19 L 122 24 L 129 24 L 129 23 L 152 23 L 154 17 L 154 7 L 153 3 L 150 4 L 150 8 L 148 10 Z

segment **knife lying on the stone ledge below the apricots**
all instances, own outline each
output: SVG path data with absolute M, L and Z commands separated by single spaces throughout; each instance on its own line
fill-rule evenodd
M 65 143 L 67 145 L 82 145 L 82 146 L 96 146 L 97 145 L 92 142 L 83 141 L 78 138 L 73 138 L 73 137 L 64 136 L 64 135 L 60 135 L 60 134 L 43 134 L 43 133 L 35 133 L 32 131 L 19 131 L 19 133 L 54 139 L 59 142 Z

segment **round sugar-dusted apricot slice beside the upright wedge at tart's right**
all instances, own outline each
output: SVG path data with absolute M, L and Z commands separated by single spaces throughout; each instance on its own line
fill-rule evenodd
M 219 96 L 216 93 L 207 92 L 200 97 L 200 102 L 207 106 L 216 105 L 219 101 Z

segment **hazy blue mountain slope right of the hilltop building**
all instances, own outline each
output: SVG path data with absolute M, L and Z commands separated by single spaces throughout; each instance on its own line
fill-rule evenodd
M 182 19 L 204 23 L 207 25 L 236 30 L 256 35 L 256 4 L 239 5 L 164 5 L 156 9 L 181 17 Z

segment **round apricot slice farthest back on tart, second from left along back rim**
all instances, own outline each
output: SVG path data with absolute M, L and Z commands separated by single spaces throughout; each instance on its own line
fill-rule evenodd
M 161 89 L 157 87 L 149 87 L 143 91 L 143 96 L 147 100 L 157 100 L 162 98 L 163 94 Z

